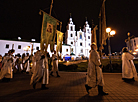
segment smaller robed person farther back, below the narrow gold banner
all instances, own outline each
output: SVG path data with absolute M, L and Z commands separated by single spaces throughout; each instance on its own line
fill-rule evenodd
M 57 77 L 60 77 L 58 74 L 58 56 L 56 54 L 56 51 L 54 51 L 54 54 L 52 54 L 52 70 L 50 75 L 53 76 L 53 72 L 56 72 Z

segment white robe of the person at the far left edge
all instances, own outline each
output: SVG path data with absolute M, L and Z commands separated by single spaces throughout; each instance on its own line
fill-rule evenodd
M 1 69 L 0 72 L 0 80 L 5 78 L 13 78 L 13 72 L 12 72 L 12 64 L 13 62 L 11 60 L 9 60 L 10 58 L 12 58 L 11 56 L 7 55 L 6 57 L 4 57 L 2 64 L 3 67 Z

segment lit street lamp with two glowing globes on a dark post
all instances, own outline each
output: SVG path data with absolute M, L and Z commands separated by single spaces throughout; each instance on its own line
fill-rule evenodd
M 108 33 L 108 50 L 109 50 L 109 60 L 110 60 L 110 71 L 113 72 L 112 62 L 111 62 L 111 47 L 110 47 L 110 37 L 115 35 L 115 31 L 111 28 L 106 28 L 106 33 Z

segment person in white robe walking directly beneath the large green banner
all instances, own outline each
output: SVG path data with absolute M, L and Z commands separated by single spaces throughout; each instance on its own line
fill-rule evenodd
M 46 84 L 49 83 L 49 71 L 48 71 L 48 60 L 43 51 L 37 51 L 32 60 L 32 77 L 30 85 L 33 85 L 35 89 L 38 82 L 42 82 L 41 89 L 48 89 Z

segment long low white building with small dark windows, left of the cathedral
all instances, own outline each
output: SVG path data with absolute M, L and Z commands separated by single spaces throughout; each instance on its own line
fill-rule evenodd
M 33 48 L 33 54 L 40 50 L 40 43 L 38 42 L 32 42 L 32 41 L 13 41 L 13 40 L 0 40 L 0 54 L 2 56 L 5 55 L 5 53 L 8 53 L 10 49 L 15 50 L 15 54 L 23 54 L 23 53 L 29 53 L 31 54 L 31 49 Z M 55 45 L 56 48 L 56 45 Z M 50 56 L 52 56 L 52 53 L 50 52 L 50 46 L 48 46 L 47 51 L 49 52 Z M 65 55 L 70 55 L 70 45 L 63 44 L 62 45 L 62 58 Z

